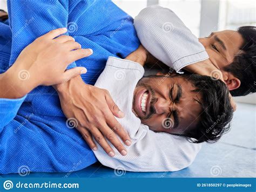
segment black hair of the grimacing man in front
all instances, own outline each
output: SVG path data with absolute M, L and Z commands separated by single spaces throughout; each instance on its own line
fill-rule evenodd
M 233 117 L 227 86 L 223 81 L 208 76 L 186 74 L 183 77 L 192 83 L 194 92 L 201 94 L 202 99 L 198 102 L 203 108 L 196 128 L 184 136 L 194 143 L 218 141 L 230 129 Z

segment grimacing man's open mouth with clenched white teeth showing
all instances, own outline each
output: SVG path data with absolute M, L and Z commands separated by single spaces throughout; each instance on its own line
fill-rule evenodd
M 151 92 L 146 88 L 138 90 L 134 97 L 134 112 L 138 117 L 145 117 L 150 113 Z

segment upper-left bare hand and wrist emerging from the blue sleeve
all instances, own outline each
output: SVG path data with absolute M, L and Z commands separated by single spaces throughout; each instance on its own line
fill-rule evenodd
M 86 72 L 84 67 L 66 71 L 70 63 L 88 56 L 90 50 L 80 49 L 72 37 L 59 36 L 65 32 L 50 31 L 19 54 L 14 65 L 0 75 L 0 98 L 21 98 L 39 85 L 59 84 Z

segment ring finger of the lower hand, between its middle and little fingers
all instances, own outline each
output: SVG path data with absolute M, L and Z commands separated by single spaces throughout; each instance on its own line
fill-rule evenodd
M 89 130 L 92 134 L 92 136 L 95 138 L 96 142 L 99 143 L 100 146 L 102 146 L 103 150 L 105 150 L 105 152 L 113 157 L 114 151 L 113 149 L 110 147 L 109 143 L 106 142 L 104 136 L 102 135 L 102 133 L 100 133 L 99 129 L 96 127 L 92 127 Z

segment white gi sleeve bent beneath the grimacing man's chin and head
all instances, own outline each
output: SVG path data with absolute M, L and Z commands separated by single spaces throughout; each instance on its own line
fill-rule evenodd
M 141 124 L 140 119 L 132 113 L 133 92 L 143 74 L 144 68 L 133 61 L 114 57 L 107 60 L 105 70 L 95 86 L 108 90 L 114 102 L 125 113 L 125 118 L 117 120 L 129 133 L 132 145 L 126 147 L 126 156 L 120 155 L 110 142 L 116 156 L 110 157 L 99 145 L 94 153 L 100 163 L 113 169 L 131 172 L 183 169 L 193 162 L 201 145 L 190 143 L 182 136 L 155 133 Z

